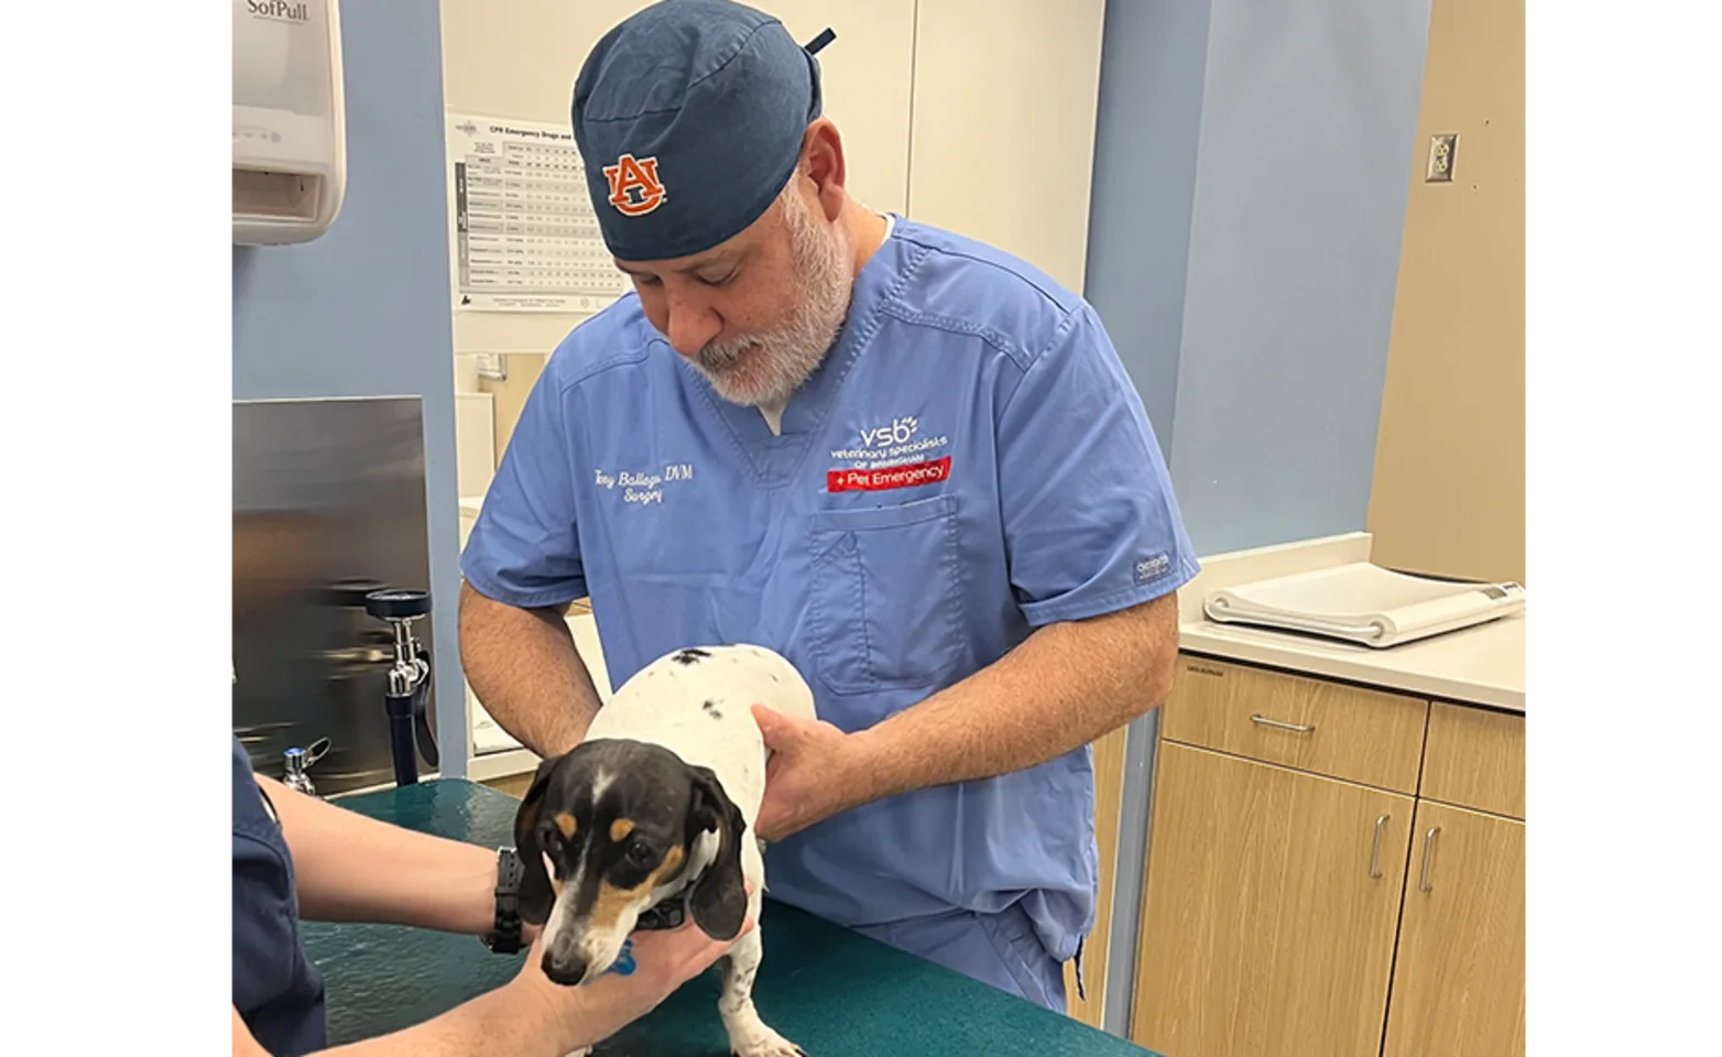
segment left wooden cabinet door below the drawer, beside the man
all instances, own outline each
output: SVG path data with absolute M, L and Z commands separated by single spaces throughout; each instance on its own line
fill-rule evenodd
M 1374 1057 L 1412 799 L 1176 742 L 1155 771 L 1133 1036 Z

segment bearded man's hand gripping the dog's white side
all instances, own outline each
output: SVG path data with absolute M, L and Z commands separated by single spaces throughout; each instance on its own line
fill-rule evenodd
M 782 840 L 871 799 L 868 763 L 854 735 L 763 704 L 753 706 L 753 714 L 771 754 L 754 819 L 761 838 Z

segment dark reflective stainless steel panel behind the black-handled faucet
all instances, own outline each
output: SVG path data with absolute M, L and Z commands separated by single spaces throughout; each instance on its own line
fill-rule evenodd
M 231 401 L 227 451 L 229 723 L 265 775 L 329 739 L 319 794 L 387 785 L 396 634 L 365 596 L 430 584 L 420 401 Z M 415 692 L 434 730 L 430 680 Z

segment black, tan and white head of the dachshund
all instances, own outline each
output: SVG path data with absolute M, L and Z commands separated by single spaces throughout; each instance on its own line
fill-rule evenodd
M 515 847 L 520 916 L 544 926 L 544 974 L 570 986 L 596 978 L 641 912 L 701 866 L 694 923 L 735 938 L 747 916 L 744 830 L 708 768 L 658 745 L 599 739 L 541 763 L 515 814 Z

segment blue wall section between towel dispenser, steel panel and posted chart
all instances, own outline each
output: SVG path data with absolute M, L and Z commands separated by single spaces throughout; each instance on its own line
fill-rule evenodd
M 341 33 L 346 201 L 313 243 L 229 248 L 231 398 L 424 399 L 437 740 L 465 775 L 437 5 L 343 3 Z

